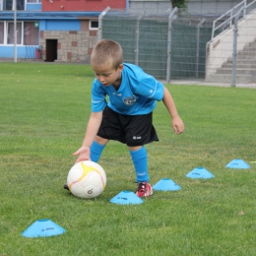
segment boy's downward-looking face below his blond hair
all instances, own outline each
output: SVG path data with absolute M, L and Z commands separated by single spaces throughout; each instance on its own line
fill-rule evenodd
M 122 81 L 123 64 L 115 69 L 112 65 L 106 64 L 99 67 L 92 66 L 96 74 L 96 80 L 99 81 L 104 87 L 111 85 L 118 87 Z

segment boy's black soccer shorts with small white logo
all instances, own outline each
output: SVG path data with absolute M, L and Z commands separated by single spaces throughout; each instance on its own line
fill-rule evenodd
M 143 146 L 159 141 L 152 124 L 153 113 L 124 115 L 106 106 L 97 135 L 101 138 L 119 141 L 127 146 Z

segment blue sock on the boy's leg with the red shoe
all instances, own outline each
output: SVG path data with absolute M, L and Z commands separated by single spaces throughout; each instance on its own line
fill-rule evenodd
M 136 181 L 149 181 L 150 176 L 148 173 L 148 154 L 145 147 L 138 151 L 130 151 L 133 164 L 136 172 Z

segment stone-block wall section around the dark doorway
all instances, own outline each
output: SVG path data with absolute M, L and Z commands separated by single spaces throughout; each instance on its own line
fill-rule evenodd
M 89 30 L 89 20 L 81 21 L 80 31 L 41 31 L 41 57 L 46 59 L 46 39 L 57 39 L 56 62 L 90 63 L 90 55 L 97 41 L 97 31 Z

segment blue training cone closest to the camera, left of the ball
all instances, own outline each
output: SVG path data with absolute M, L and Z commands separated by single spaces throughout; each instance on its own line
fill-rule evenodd
M 26 237 L 36 238 L 58 235 L 64 233 L 65 231 L 66 230 L 58 224 L 54 224 L 52 221 L 44 219 L 38 220 L 33 223 L 22 233 L 22 235 Z

